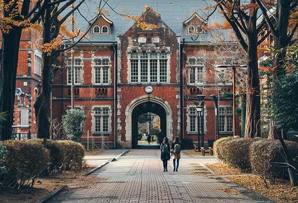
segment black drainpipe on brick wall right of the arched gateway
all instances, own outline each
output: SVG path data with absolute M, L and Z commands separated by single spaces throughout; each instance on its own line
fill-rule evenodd
M 180 139 L 183 139 L 184 137 L 184 76 L 182 74 L 182 70 L 183 70 L 183 62 L 184 62 L 184 43 L 185 43 L 185 39 L 183 38 L 183 42 L 182 42 L 182 46 L 181 46 L 181 51 L 180 51 L 180 74 L 181 74 L 181 137 Z

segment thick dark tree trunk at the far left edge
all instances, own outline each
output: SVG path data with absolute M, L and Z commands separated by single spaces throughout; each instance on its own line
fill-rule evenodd
M 8 34 L 2 33 L 0 68 L 0 112 L 6 112 L 6 121 L 1 124 L 1 140 L 11 139 L 15 81 L 18 63 L 18 51 L 21 37 L 20 27 L 12 26 Z M 4 89 L 5 87 L 5 89 Z

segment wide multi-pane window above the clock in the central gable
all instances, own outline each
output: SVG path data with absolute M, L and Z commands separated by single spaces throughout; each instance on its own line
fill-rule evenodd
M 130 81 L 131 82 L 167 82 L 168 55 L 162 50 L 146 52 L 132 51 L 130 54 Z

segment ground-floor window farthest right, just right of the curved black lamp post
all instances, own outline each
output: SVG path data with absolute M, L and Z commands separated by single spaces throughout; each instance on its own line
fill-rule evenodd
M 219 130 L 220 132 L 231 133 L 233 131 L 233 108 L 220 107 Z

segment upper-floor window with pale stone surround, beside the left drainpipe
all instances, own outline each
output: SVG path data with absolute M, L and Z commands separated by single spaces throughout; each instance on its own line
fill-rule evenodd
M 100 61 L 100 64 L 96 62 Z M 103 62 L 108 62 L 103 64 Z M 111 84 L 111 57 L 97 57 L 92 61 L 92 84 Z M 106 75 L 106 79 L 104 79 Z M 99 77 L 99 81 L 98 78 Z

